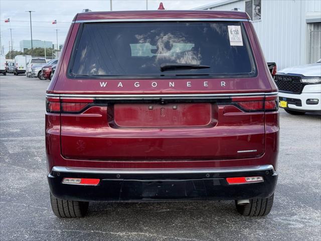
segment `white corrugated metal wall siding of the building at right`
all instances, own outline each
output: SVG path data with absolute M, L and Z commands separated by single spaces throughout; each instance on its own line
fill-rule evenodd
M 233 8 L 244 11 L 244 0 L 211 10 Z M 262 0 L 261 20 L 253 26 L 267 62 L 276 62 L 278 69 L 307 63 L 307 12 L 321 12 L 321 1 Z

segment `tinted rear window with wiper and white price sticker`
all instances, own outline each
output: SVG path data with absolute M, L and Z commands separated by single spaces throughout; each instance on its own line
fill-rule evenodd
M 71 59 L 69 76 L 76 78 L 256 73 L 238 22 L 83 24 Z

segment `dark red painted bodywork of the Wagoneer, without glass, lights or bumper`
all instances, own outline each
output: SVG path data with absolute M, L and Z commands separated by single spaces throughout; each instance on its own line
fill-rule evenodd
M 247 16 L 236 11 L 148 11 L 83 13 L 78 14 L 75 20 L 150 18 L 247 19 Z M 277 88 L 270 76 L 251 23 L 243 24 L 253 52 L 257 76 L 157 79 L 157 86 L 153 87 L 155 79 L 69 79 L 66 74 L 67 67 L 80 26 L 79 23 L 74 23 L 70 27 L 56 74 L 47 93 L 96 96 L 262 93 L 260 96 L 263 97 L 264 93 L 277 91 Z M 222 87 L 221 81 L 225 81 L 225 87 Z M 101 87 L 100 82 L 107 82 L 106 87 Z M 123 86 L 121 89 L 118 88 L 119 82 Z M 134 82 L 139 82 L 139 88 L 134 86 Z M 170 82 L 175 82 L 175 88 L 170 87 Z M 246 96 L 241 97 L 246 99 Z M 271 164 L 276 169 L 278 111 L 246 112 L 231 103 L 201 103 L 193 107 L 183 102 L 184 108 L 180 110 L 180 114 L 172 114 L 164 120 L 161 114 L 157 117 L 148 116 L 147 110 L 140 109 L 146 109 L 148 105 L 92 103 L 81 113 L 46 113 L 48 171 L 50 172 L 53 166 L 207 168 L 265 164 Z M 153 105 L 155 113 L 161 113 L 162 105 Z M 186 111 L 191 111 L 191 115 L 186 116 L 195 118 L 184 119 L 182 113 Z M 177 122 L 174 122 L 175 117 L 178 119 Z M 256 151 L 238 153 L 243 150 Z

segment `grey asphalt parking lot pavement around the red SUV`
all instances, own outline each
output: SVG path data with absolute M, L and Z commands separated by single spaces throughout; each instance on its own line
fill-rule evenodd
M 274 205 L 265 217 L 234 201 L 90 203 L 84 218 L 51 211 L 45 156 L 49 81 L 0 76 L 1 240 L 320 240 L 321 116 L 280 110 Z

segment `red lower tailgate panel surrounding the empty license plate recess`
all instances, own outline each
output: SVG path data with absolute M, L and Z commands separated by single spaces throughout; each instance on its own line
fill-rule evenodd
M 236 107 L 231 107 L 227 111 L 219 106 L 217 125 L 202 128 L 115 129 L 107 123 L 106 107 L 91 107 L 82 114 L 62 114 L 62 154 L 66 158 L 87 160 L 219 159 L 262 155 L 264 112 L 240 114 Z M 86 132 L 82 131 L 84 128 Z M 237 153 L 249 147 L 257 152 Z

